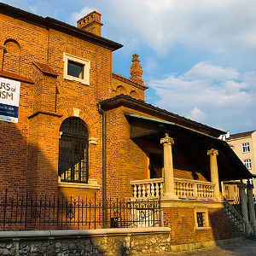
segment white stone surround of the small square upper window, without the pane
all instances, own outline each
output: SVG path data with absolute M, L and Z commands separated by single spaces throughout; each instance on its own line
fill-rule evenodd
M 86 84 L 90 85 L 90 61 L 82 59 L 78 56 L 75 55 L 70 55 L 64 52 L 63 54 L 63 61 L 64 61 L 64 79 L 71 80 L 71 81 L 77 81 L 80 82 L 81 84 Z M 79 64 L 84 65 L 84 79 L 79 79 L 73 76 L 70 76 L 67 74 L 67 62 L 68 61 L 74 61 Z

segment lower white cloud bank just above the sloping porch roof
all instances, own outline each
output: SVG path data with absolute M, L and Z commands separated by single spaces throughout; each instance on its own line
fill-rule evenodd
M 256 72 L 239 73 L 205 61 L 183 75 L 149 82 L 160 108 L 231 131 L 255 128 L 255 84 Z

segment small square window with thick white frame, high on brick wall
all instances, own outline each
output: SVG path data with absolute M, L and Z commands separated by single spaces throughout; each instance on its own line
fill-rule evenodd
M 64 53 L 64 79 L 90 85 L 90 61 Z

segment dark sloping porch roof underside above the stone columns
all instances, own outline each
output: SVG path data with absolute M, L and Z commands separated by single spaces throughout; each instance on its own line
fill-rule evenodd
M 190 155 L 194 162 L 201 162 L 202 166 L 209 166 L 207 150 L 218 149 L 218 172 L 222 181 L 252 178 L 246 166 L 230 148 L 229 144 L 200 131 L 191 130 L 174 122 L 154 119 L 124 112 L 131 125 L 131 139 L 160 142 L 165 133 L 174 137 L 174 147 L 182 148 L 183 152 Z M 205 169 L 203 172 L 208 172 Z M 209 173 L 208 173 L 209 175 Z

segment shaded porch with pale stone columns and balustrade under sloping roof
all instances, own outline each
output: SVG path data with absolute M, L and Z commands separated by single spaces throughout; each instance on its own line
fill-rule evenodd
M 130 180 L 134 199 L 220 202 L 221 181 L 251 175 L 217 137 L 167 120 L 127 112 L 125 117 L 131 140 L 148 159 L 145 179 Z

